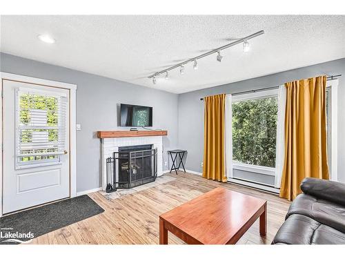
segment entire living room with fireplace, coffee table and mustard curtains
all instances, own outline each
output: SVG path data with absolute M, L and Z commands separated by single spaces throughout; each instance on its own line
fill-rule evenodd
M 42 12 L 1 14 L 1 247 L 345 244 L 344 15 Z

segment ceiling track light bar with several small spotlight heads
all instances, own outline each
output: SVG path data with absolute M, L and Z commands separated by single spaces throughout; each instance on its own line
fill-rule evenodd
M 169 74 L 168 74 L 168 71 L 172 70 L 172 69 L 177 69 L 179 68 L 179 73 L 181 73 L 181 75 L 184 75 L 184 65 L 188 64 L 188 63 L 192 63 L 194 62 L 194 65 L 193 65 L 193 68 L 195 70 L 197 70 L 198 68 L 198 64 L 197 64 L 197 59 L 202 59 L 203 57 L 207 57 L 209 55 L 213 55 L 214 53 L 217 52 L 217 61 L 221 62 L 221 59 L 223 59 L 223 56 L 221 56 L 220 54 L 220 51 L 221 50 L 225 50 L 226 48 L 230 48 L 232 46 L 235 46 L 237 44 L 243 44 L 243 51 L 244 52 L 248 52 L 250 50 L 250 44 L 248 43 L 248 40 L 249 39 L 253 39 L 259 35 L 263 35 L 265 32 L 264 30 L 260 30 L 258 32 L 255 32 L 253 33 L 252 35 L 248 35 L 247 37 L 244 37 L 244 38 L 241 38 L 241 39 L 237 39 L 233 42 L 230 42 L 229 44 L 226 44 L 224 46 L 220 46 L 219 48 L 215 48 L 213 50 L 210 50 L 204 54 L 201 54 L 197 57 L 192 57 L 190 59 L 187 59 L 185 61 L 181 61 L 181 63 L 179 64 L 175 64 L 174 66 L 170 66 L 170 68 L 166 68 L 164 70 L 161 70 L 159 72 L 156 72 L 150 76 L 148 76 L 148 78 L 152 78 L 152 83 L 153 84 L 156 84 L 156 77 L 158 76 L 161 76 L 161 75 L 164 75 L 164 73 L 166 74 L 166 79 L 169 78 Z

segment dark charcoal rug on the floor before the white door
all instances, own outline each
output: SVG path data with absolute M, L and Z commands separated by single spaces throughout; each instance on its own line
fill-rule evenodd
M 45 233 L 104 212 L 88 195 L 81 195 L 0 218 L 0 244 L 30 242 Z

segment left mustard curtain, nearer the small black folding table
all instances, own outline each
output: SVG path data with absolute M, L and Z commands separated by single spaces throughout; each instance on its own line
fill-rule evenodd
M 204 167 L 202 176 L 226 182 L 225 94 L 204 98 Z

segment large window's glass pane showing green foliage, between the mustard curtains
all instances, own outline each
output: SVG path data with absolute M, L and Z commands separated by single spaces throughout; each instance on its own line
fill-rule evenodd
M 233 161 L 275 168 L 277 96 L 233 102 Z

